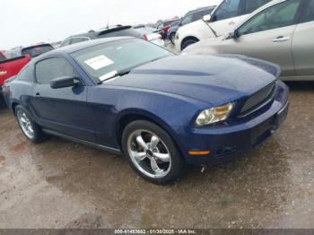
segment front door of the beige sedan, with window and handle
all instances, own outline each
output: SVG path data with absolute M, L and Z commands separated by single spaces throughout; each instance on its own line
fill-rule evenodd
M 295 75 L 292 36 L 301 0 L 285 1 L 266 8 L 236 30 L 236 38 L 222 41 L 220 52 L 257 57 L 281 65 L 283 76 Z

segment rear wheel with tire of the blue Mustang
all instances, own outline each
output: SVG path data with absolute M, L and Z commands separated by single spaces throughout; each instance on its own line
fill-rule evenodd
M 16 106 L 15 116 L 20 128 L 22 129 L 22 133 L 29 140 L 31 140 L 31 142 L 39 144 L 47 138 L 47 135 L 42 132 L 40 126 L 31 120 L 29 112 L 21 105 Z

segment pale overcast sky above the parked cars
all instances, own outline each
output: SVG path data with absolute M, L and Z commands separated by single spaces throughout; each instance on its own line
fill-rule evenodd
M 53 42 L 109 24 L 156 22 L 221 0 L 1 0 L 0 49 Z

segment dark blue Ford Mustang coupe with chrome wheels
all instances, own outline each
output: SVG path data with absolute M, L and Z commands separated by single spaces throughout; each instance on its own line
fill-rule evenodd
M 176 56 L 141 39 L 92 40 L 31 61 L 4 98 L 34 143 L 117 153 L 155 183 L 261 144 L 287 115 L 280 69 L 240 56 Z

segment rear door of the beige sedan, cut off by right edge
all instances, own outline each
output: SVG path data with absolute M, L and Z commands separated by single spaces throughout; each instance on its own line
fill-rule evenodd
M 314 1 L 307 0 L 293 34 L 292 55 L 297 76 L 314 76 Z

